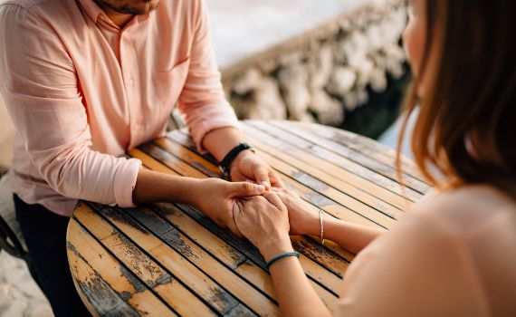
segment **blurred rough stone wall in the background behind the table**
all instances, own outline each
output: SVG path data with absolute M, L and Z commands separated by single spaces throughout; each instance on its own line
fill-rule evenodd
M 317 121 L 339 126 L 346 113 L 400 78 L 404 1 L 378 1 L 223 72 L 241 119 Z

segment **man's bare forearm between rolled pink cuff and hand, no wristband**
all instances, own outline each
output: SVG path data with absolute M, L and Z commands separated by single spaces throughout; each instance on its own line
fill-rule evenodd
M 193 203 L 192 192 L 199 182 L 196 178 L 178 177 L 141 168 L 133 190 L 135 204 L 156 201 Z

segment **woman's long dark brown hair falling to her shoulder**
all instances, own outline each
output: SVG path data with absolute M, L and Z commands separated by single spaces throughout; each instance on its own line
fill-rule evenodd
M 411 145 L 431 184 L 488 184 L 516 197 L 516 2 L 427 0 L 426 9 L 419 77 L 431 72 L 433 78 L 425 98 L 416 97 L 417 79 L 406 96 L 397 168 L 408 117 L 419 105 Z M 428 70 L 432 45 L 441 50 L 437 68 Z M 445 183 L 430 172 L 432 165 Z

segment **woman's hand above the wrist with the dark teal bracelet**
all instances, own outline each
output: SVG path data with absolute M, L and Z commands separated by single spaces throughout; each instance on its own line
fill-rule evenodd
M 291 252 L 289 216 L 280 197 L 274 193 L 239 199 L 234 220 L 240 232 L 262 253 L 265 261 Z

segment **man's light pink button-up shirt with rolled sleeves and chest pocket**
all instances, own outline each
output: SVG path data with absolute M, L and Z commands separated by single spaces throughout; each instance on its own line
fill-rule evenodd
M 162 0 L 119 29 L 92 0 L 0 1 L 0 91 L 14 122 L 13 188 L 72 215 L 77 199 L 131 207 L 141 162 L 178 104 L 200 147 L 236 126 L 202 0 Z

